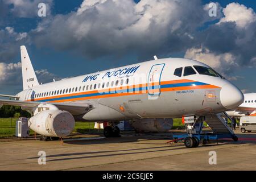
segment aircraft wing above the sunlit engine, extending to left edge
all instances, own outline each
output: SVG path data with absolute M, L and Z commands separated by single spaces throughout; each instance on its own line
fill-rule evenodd
M 21 106 L 21 107 L 27 107 L 31 109 L 33 107 L 36 107 L 40 104 L 44 104 L 46 102 L 32 102 L 32 101 L 16 101 L 16 100 L 2 100 L 0 99 L 0 105 L 11 105 L 11 106 Z M 88 113 L 88 111 L 92 110 L 94 106 L 92 104 L 74 104 L 74 103 L 48 103 L 55 105 L 60 110 L 69 111 L 72 115 L 80 115 Z

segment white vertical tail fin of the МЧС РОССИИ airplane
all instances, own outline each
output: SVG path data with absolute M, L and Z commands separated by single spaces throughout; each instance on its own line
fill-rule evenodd
M 36 78 L 34 68 L 30 61 L 30 56 L 28 56 L 25 46 L 20 46 L 20 55 L 22 60 L 23 90 L 38 86 L 38 78 Z

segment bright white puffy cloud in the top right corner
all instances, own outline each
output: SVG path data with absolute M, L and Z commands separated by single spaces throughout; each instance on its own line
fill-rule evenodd
M 247 27 L 256 20 L 254 10 L 239 3 L 230 3 L 223 9 L 223 13 L 224 17 L 219 23 L 235 22 L 238 27 Z

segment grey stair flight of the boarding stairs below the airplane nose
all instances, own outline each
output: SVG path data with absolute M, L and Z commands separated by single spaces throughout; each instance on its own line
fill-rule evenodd
M 204 121 L 209 125 L 214 134 L 234 134 L 233 130 L 226 124 L 225 120 L 222 118 L 223 115 L 231 120 L 229 115 L 224 112 L 206 115 Z

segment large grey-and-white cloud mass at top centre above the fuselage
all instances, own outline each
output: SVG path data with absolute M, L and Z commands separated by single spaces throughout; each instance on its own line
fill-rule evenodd
M 86 0 L 76 12 L 40 22 L 33 37 L 38 47 L 76 51 L 87 57 L 185 51 L 208 11 L 196 1 Z

